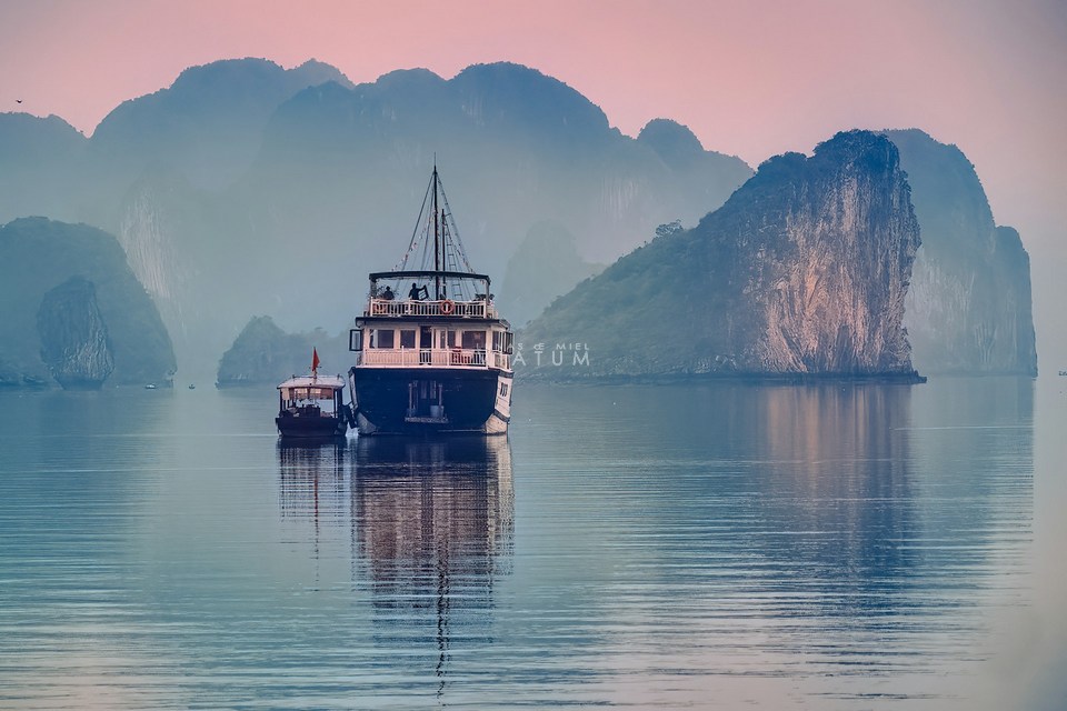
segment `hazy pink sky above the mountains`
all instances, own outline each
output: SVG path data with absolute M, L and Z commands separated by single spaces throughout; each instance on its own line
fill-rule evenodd
M 0 111 L 86 134 L 182 69 L 239 57 L 315 58 L 357 83 L 520 62 L 625 133 L 675 119 L 754 167 L 842 129 L 921 128 L 964 150 L 1019 229 L 1039 365 L 1067 369 L 1065 0 L 0 0 Z

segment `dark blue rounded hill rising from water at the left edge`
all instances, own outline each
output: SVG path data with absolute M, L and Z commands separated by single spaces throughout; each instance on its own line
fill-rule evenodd
M 162 383 L 174 373 L 154 303 L 114 237 L 96 228 L 44 218 L 0 227 L 0 384 Z

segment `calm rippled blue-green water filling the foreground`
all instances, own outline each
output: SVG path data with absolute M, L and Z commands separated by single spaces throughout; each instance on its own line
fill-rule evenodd
M 0 393 L 0 707 L 1063 708 L 1064 381 Z

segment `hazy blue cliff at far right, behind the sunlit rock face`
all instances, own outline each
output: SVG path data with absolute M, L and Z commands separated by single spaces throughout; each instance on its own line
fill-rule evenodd
M 905 326 L 924 373 L 1037 374 L 1030 260 L 997 227 L 974 166 L 923 131 L 887 131 L 923 230 Z

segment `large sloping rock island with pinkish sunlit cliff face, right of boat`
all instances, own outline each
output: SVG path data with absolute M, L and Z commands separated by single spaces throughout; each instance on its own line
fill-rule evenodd
M 522 334 L 517 370 L 914 378 L 903 320 L 919 243 L 896 147 L 838 133 L 558 299 Z M 588 358 L 534 367 L 534 348 L 560 344 Z

